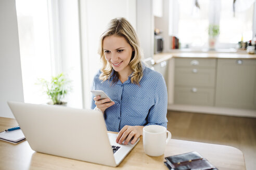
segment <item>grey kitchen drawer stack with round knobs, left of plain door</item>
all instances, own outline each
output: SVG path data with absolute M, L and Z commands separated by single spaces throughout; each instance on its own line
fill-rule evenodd
M 174 104 L 214 106 L 216 59 L 175 58 Z

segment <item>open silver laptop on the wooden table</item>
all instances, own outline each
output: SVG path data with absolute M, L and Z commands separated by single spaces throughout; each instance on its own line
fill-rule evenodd
M 138 143 L 119 145 L 100 111 L 8 102 L 32 150 L 108 166 L 119 165 Z

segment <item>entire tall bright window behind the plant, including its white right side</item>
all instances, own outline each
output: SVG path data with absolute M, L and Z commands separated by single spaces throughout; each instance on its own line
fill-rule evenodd
M 47 103 L 37 79 L 64 72 L 72 81 L 64 100 L 82 108 L 78 1 L 16 0 L 16 9 L 24 102 Z

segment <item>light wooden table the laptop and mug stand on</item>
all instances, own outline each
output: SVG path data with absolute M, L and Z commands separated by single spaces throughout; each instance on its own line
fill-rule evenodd
M 0 117 L 0 131 L 16 126 L 15 119 Z M 117 167 L 103 166 L 33 151 L 28 141 L 11 144 L 0 140 L 0 169 L 168 169 L 164 157 L 199 152 L 219 169 L 246 169 L 244 154 L 230 146 L 171 139 L 160 157 L 149 157 L 143 150 L 143 138 Z

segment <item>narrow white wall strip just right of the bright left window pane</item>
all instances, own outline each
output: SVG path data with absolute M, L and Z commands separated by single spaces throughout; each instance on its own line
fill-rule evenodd
M 80 53 L 78 1 L 61 0 L 59 4 L 60 60 L 62 71 L 72 80 L 72 93 L 65 98 L 69 107 L 82 108 L 82 70 Z

